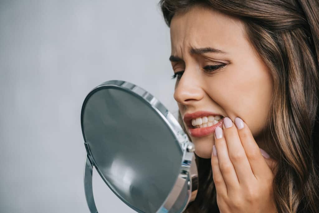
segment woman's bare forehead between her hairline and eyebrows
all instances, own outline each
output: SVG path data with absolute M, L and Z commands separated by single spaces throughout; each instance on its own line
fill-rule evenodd
M 170 34 L 172 53 L 212 45 L 227 51 L 247 42 L 240 20 L 202 6 L 174 15 Z

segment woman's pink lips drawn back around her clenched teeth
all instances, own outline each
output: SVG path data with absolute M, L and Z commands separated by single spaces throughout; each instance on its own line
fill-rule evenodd
M 215 129 L 217 126 L 221 127 L 223 124 L 223 120 L 224 120 L 224 116 L 223 119 L 221 119 L 217 124 L 213 125 L 213 126 L 208 126 L 208 127 L 202 127 L 202 128 L 193 128 L 192 126 L 192 119 L 194 118 L 199 118 L 199 117 L 203 117 L 203 116 L 216 116 L 216 115 L 220 115 L 220 114 L 216 114 L 216 113 L 212 113 L 212 112 L 208 112 L 208 111 L 197 111 L 194 113 L 185 113 L 183 120 L 184 123 L 186 124 L 186 126 L 189 129 L 189 133 L 191 136 L 193 137 L 202 137 L 205 135 L 209 135 L 211 133 L 215 132 Z

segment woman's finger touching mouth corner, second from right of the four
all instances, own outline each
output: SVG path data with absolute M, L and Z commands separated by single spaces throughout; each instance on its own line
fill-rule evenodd
M 228 117 L 225 117 L 223 120 L 223 130 L 228 147 L 228 155 L 234 165 L 239 183 L 249 185 L 253 178 L 256 178 L 250 168 L 245 150 L 241 145 L 237 128 L 233 121 Z

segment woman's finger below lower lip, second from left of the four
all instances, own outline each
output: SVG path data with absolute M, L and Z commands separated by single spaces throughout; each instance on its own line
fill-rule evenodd
M 228 156 L 228 148 L 225 137 L 223 136 L 223 130 L 219 126 L 215 129 L 214 139 L 219 169 L 223 175 L 227 189 L 237 189 L 239 187 L 239 181 L 234 166 Z

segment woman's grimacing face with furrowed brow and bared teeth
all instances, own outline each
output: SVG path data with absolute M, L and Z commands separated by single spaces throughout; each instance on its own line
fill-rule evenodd
M 229 117 L 233 122 L 240 117 L 260 146 L 260 135 L 271 104 L 273 79 L 269 68 L 249 43 L 242 22 L 197 5 L 186 13 L 174 15 L 170 33 L 174 73 L 184 71 L 177 76 L 174 92 L 182 118 L 186 113 L 199 111 Z M 214 49 L 224 53 L 212 51 Z M 193 127 L 187 126 L 185 121 L 184 125 L 195 144 L 195 153 L 210 158 L 213 128 L 209 133 L 197 131 L 192 135 L 189 129 Z

